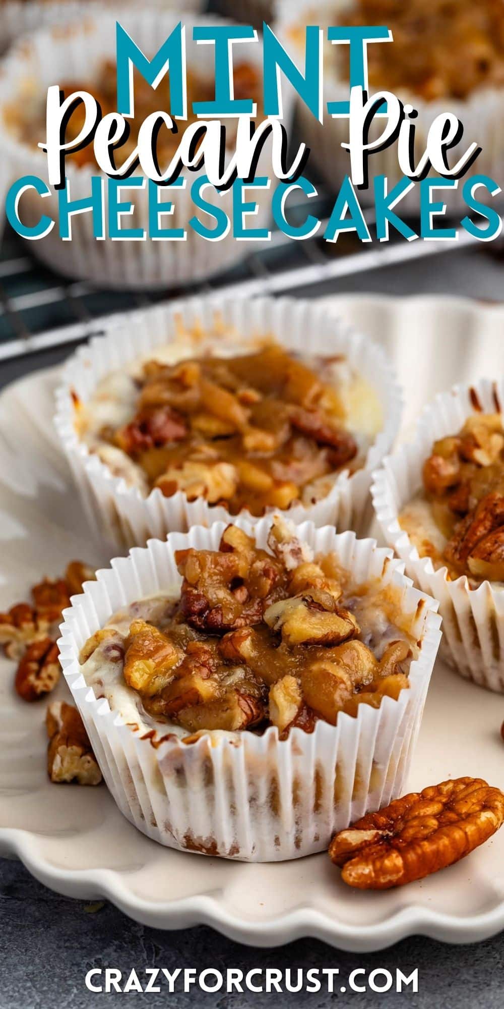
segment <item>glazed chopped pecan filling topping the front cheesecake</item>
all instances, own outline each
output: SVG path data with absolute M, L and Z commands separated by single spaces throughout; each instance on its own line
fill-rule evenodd
M 188 734 L 273 724 L 285 737 L 408 687 L 415 645 L 404 618 L 402 629 L 390 620 L 400 606 L 382 588 L 347 597 L 335 556 L 312 558 L 288 524 L 273 525 L 267 550 L 228 526 L 218 551 L 175 561 L 178 598 L 133 603 L 81 654 L 111 705 L 118 683 L 134 692 L 146 728 L 145 717 Z

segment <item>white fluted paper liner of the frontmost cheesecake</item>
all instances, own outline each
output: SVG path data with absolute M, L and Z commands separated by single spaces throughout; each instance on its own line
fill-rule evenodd
M 261 520 L 255 530 L 242 521 L 238 525 L 255 533 L 264 548 L 271 521 Z M 181 579 L 174 551 L 217 550 L 224 529 L 219 523 L 150 541 L 99 571 L 97 582 L 88 582 L 64 612 L 60 662 L 108 788 L 139 830 L 169 848 L 241 861 L 300 858 L 324 851 L 336 830 L 401 794 L 440 621 L 435 602 L 411 587 L 390 551 L 378 549 L 374 540 L 357 540 L 354 533 L 336 535 L 304 523 L 297 530 L 302 542 L 316 552 L 335 551 L 357 583 L 380 578 L 403 592 L 401 609 L 413 614 L 412 634 L 419 642 L 409 689 L 398 700 L 384 697 L 380 708 L 361 704 L 356 718 L 340 714 L 336 727 L 320 720 L 310 735 L 295 728 L 286 741 L 270 726 L 263 736 L 213 733 L 191 746 L 177 739 L 156 749 L 111 710 L 107 699 L 95 696 L 81 673 L 79 652 L 118 608 L 141 596 L 176 591 Z

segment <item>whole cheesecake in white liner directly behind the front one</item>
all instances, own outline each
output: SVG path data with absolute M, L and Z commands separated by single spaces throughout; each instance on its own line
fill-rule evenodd
M 137 316 L 78 350 L 56 401 L 91 521 L 120 549 L 273 510 L 364 530 L 400 410 L 379 348 L 288 299 Z

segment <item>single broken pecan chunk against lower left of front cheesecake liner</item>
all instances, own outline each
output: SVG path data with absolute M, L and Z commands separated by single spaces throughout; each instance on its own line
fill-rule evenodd
M 75 781 L 79 785 L 99 785 L 102 772 L 77 707 L 52 701 L 47 707 L 45 726 L 50 780 L 56 784 Z

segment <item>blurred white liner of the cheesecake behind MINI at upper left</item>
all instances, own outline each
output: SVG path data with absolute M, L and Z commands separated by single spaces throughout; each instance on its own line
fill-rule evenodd
M 95 13 L 96 8 L 87 8 L 79 22 L 65 26 L 39 29 L 24 36 L 6 57 L 0 77 L 0 136 L 4 156 L 7 158 L 14 179 L 24 175 L 36 175 L 47 181 L 46 156 L 42 151 L 20 142 L 4 119 L 4 110 L 12 106 L 20 89 L 26 82 L 33 82 L 34 94 L 41 95 L 48 85 L 64 80 L 93 81 L 95 72 L 106 59 L 115 59 L 115 23 L 112 13 Z M 217 15 L 195 15 L 173 10 L 121 10 L 121 23 L 145 52 L 157 51 L 160 39 L 166 37 L 173 26 L 182 20 L 186 25 L 187 64 L 196 63 L 203 73 L 213 74 L 214 46 L 198 45 L 192 39 L 196 24 L 215 25 Z M 243 46 L 242 46 L 243 48 Z M 249 60 L 261 72 L 262 43 L 246 46 L 243 59 Z M 293 98 L 287 98 L 283 122 L 287 129 L 293 111 Z M 266 143 L 260 154 L 256 177 L 272 177 L 270 144 Z M 91 180 L 100 172 L 95 164 L 76 165 L 72 160 L 66 164 L 67 178 L 73 200 L 84 199 L 91 193 Z M 203 172 L 201 173 L 203 174 Z M 251 251 L 256 251 L 255 240 L 237 241 L 230 229 L 222 241 L 208 241 L 190 227 L 195 215 L 195 204 L 191 198 L 192 184 L 197 173 L 185 173 L 184 189 L 169 191 L 162 199 L 171 200 L 173 213 L 169 227 L 184 228 L 185 241 L 113 241 L 108 236 L 97 241 L 93 235 L 92 215 L 81 214 L 73 218 L 72 241 L 62 241 L 58 235 L 57 194 L 43 201 L 43 211 L 54 221 L 49 234 L 37 241 L 30 241 L 30 250 L 52 269 L 65 275 L 90 281 L 99 287 L 118 290 L 141 290 L 160 288 L 168 290 L 186 284 L 201 282 L 226 268 L 236 265 Z M 104 177 L 106 179 L 106 177 Z M 126 181 L 127 185 L 127 181 Z M 265 228 L 271 223 L 271 192 L 257 189 L 248 195 L 257 203 L 254 228 Z M 107 187 L 105 187 L 105 219 L 107 220 Z M 209 203 L 219 206 L 233 219 L 233 193 L 219 194 L 209 189 L 205 193 Z M 144 190 L 124 191 L 124 200 L 130 199 L 134 213 L 128 218 L 128 227 L 143 228 L 148 236 L 148 193 Z M 31 191 L 23 196 L 23 219 L 28 222 L 40 216 L 40 198 Z M 165 222 L 165 226 L 166 222 Z

